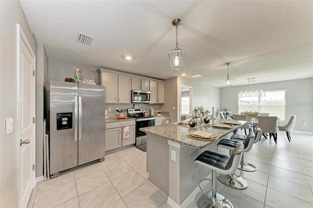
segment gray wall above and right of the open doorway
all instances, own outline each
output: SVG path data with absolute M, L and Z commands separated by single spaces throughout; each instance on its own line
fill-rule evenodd
M 178 78 L 178 87 L 180 85 L 192 86 L 192 109 L 199 107 L 200 104 L 203 105 L 209 111 L 212 111 L 214 107 L 214 117 L 218 115 L 220 107 L 220 88 L 210 86 L 206 82 L 200 80 L 191 80 L 189 78 Z M 211 114 L 211 113 L 210 113 Z

